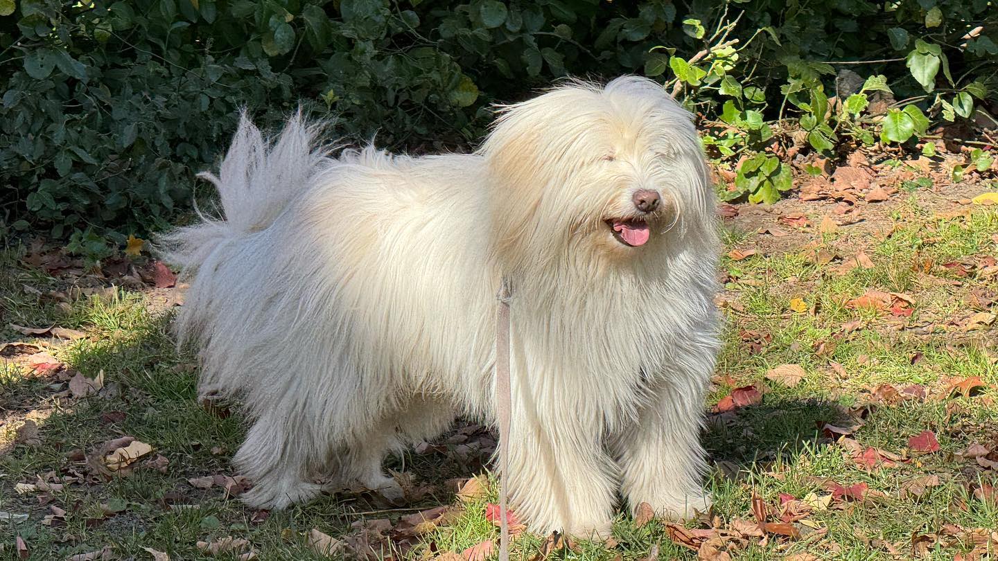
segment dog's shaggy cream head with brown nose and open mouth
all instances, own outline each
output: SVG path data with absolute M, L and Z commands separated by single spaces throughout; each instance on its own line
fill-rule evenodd
M 480 150 L 499 251 L 631 261 L 713 224 L 692 116 L 655 82 L 573 82 L 501 108 Z

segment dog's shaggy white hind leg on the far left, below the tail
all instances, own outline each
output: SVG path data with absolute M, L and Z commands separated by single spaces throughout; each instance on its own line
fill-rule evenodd
M 233 463 L 253 487 L 240 498 L 256 508 L 281 509 L 306 502 L 322 486 L 308 480 L 309 454 L 305 434 L 291 428 L 286 416 L 268 413 L 256 420 Z

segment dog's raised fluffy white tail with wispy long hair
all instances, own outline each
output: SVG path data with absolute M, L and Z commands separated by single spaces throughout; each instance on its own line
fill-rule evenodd
M 315 174 L 331 164 L 331 149 L 316 143 L 320 129 L 306 124 L 299 112 L 271 142 L 244 113 L 219 175 L 198 176 L 215 184 L 224 218 L 199 209 L 197 224 L 162 236 L 159 250 L 167 263 L 194 274 L 227 242 L 270 226 Z

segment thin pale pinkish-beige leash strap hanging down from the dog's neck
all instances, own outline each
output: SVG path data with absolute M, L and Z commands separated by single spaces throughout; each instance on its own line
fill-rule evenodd
M 512 397 L 509 383 L 509 302 L 511 281 L 503 277 L 496 299 L 496 412 L 499 417 L 499 561 L 509 561 L 509 521 L 506 480 L 509 477 L 509 425 Z

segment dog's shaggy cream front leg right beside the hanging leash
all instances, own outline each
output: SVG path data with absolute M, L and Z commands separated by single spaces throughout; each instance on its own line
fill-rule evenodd
M 510 500 L 535 532 L 609 537 L 620 482 L 599 427 L 545 405 L 540 413 L 529 403 L 513 405 Z

